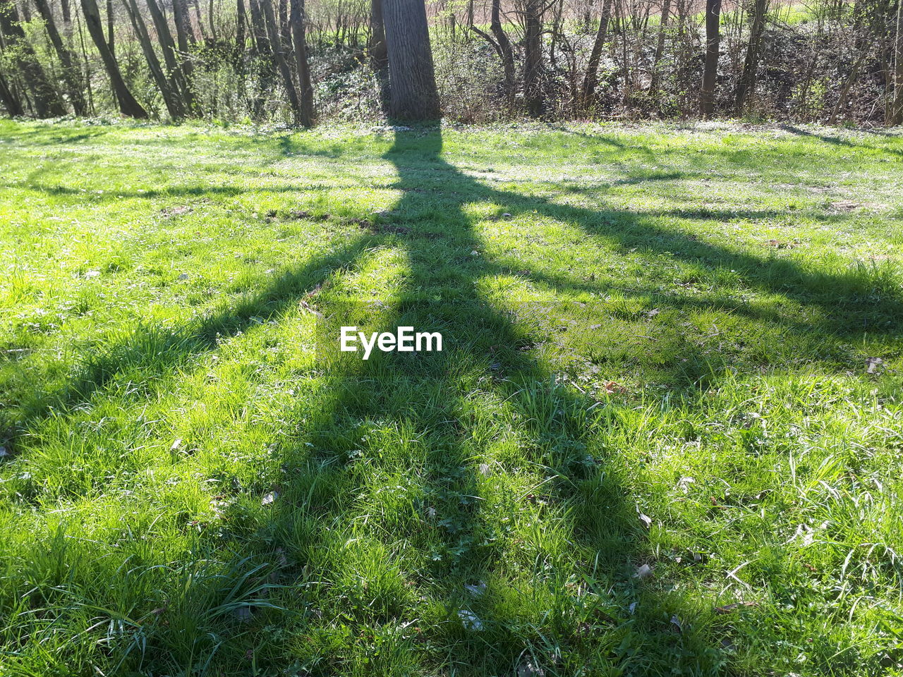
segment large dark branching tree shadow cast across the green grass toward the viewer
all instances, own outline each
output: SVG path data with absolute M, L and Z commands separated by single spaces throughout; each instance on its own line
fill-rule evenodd
M 297 422 L 295 438 L 278 450 L 290 479 L 281 487 L 281 499 L 267 524 L 259 525 L 258 531 L 266 535 L 255 546 L 258 552 L 250 552 L 250 546 L 241 542 L 229 546 L 237 547 L 241 561 L 249 555 L 274 561 L 276 552 L 291 557 L 282 567 L 284 585 L 300 590 L 308 605 L 304 614 L 278 621 L 291 624 L 307 640 L 292 645 L 291 652 L 303 656 L 313 673 L 340 672 L 342 662 L 352 661 L 355 649 L 349 645 L 357 640 L 330 646 L 323 634 L 317 634 L 318 628 L 348 624 L 351 635 L 357 635 L 368 626 L 394 623 L 410 630 L 392 635 L 393 652 L 370 657 L 379 673 L 403 672 L 405 665 L 504 673 L 527 659 L 561 674 L 588 665 L 600 673 L 670 668 L 717 672 L 725 659 L 716 638 L 694 633 L 692 624 L 678 632 L 671 621 L 685 600 L 634 578 L 637 567 L 651 561 L 653 553 L 647 550 L 637 505 L 622 481 L 616 452 L 593 448 L 592 442 L 595 427 L 619 424 L 618 405 L 560 383 L 522 349 L 538 337 L 518 330 L 506 311 L 480 295 L 479 281 L 508 267 L 470 255 L 483 246 L 463 206 L 491 201 L 513 216 L 535 210 L 576 224 L 586 236 L 609 244 L 641 248 L 706 269 L 730 270 L 749 289 L 817 306 L 823 321 L 795 329 L 825 341 L 838 333 L 861 333 L 863 328 L 898 330 L 897 292 L 857 274 L 814 274 L 792 261 L 763 259 L 701 242 L 656 225 L 652 215 L 578 209 L 492 190 L 442 160 L 437 130 L 397 134 L 385 158 L 396 167 L 396 187 L 405 191 L 394 209 L 399 215 L 394 229 L 362 231 L 339 251 L 315 257 L 302 270 L 197 324 L 169 333 L 138 329 L 103 355 L 87 357 L 85 373 L 70 390 L 43 394 L 24 408 L 13 434 L 37 425 L 49 407 L 65 412 L 75 403 L 102 396 L 111 378 L 136 364 L 157 365 L 162 373 L 189 364 L 191 357 L 214 349 L 218 335 L 235 335 L 256 317 L 278 317 L 368 248 L 380 243 L 399 246 L 407 255 L 409 272 L 399 300 L 381 312 L 378 322 L 386 329 L 402 323 L 418 329 L 439 324 L 448 336 L 448 351 L 425 360 L 386 356 L 323 366 L 330 384 L 328 399 L 315 414 Z M 429 195 L 421 196 L 420 190 L 429 190 Z M 433 198 L 436 203 L 430 207 L 442 210 L 442 229 L 426 233 L 417 215 L 424 201 Z M 410 232 L 401 233 L 399 223 L 409 224 Z M 449 250 L 461 256 L 453 262 L 441 260 Z M 526 274 L 558 289 L 582 285 L 563 276 Z M 424 304 L 423 299 L 432 298 L 448 302 Z M 669 298 L 677 307 L 729 302 Z M 324 313 L 340 308 L 339 303 L 330 309 L 336 301 L 328 289 L 311 302 L 319 303 Z M 735 301 L 731 310 L 757 321 L 777 321 L 773 314 Z M 706 361 L 692 347 L 687 350 L 691 361 L 700 365 Z M 686 367 L 678 365 L 665 369 L 687 387 L 696 385 L 698 372 L 688 376 Z M 526 494 L 488 488 L 481 463 L 488 458 L 487 445 L 495 430 L 487 421 L 491 412 L 474 413 L 472 398 L 478 392 L 499 403 L 499 420 L 518 422 L 518 451 L 542 477 Z M 380 430 L 402 451 L 376 453 L 368 436 Z M 392 431 L 399 431 L 395 438 Z M 514 468 L 500 463 L 488 471 L 509 469 Z M 355 501 L 367 501 L 378 482 L 403 478 L 410 480 L 414 495 L 409 515 L 391 519 L 376 515 L 366 527 L 342 523 L 343 513 Z M 511 543 L 501 526 L 504 515 L 534 519 L 536 524 L 543 518 L 554 527 L 542 533 L 537 526 L 533 543 Z M 393 541 L 393 533 L 407 534 L 407 540 L 399 536 Z M 348 541 L 337 541 L 349 534 L 362 547 L 372 545 L 371 551 L 357 555 Z M 383 543 L 386 540 L 391 545 Z M 413 554 L 402 555 L 393 547 Z M 334 561 L 324 553 L 334 555 Z M 526 560 L 515 565 L 504 561 L 511 556 Z M 410 568 L 403 570 L 398 561 Z M 483 582 L 485 590 L 479 588 Z M 472 593 L 466 586 L 479 591 Z M 572 586 L 577 593 L 562 594 Z M 612 596 L 614 589 L 619 593 Z M 637 606 L 630 610 L 611 601 L 624 599 L 633 599 Z M 425 609 L 424 616 L 410 617 L 416 609 Z M 226 626 L 232 621 L 221 618 L 211 627 L 228 635 Z M 261 653 L 266 657 L 270 651 L 268 660 L 278 664 L 284 656 L 266 648 L 265 632 L 258 629 L 263 633 Z M 160 623 L 145 639 L 155 653 L 166 656 L 164 664 L 192 670 L 195 666 L 186 663 L 186 656 L 172 654 L 173 634 L 183 631 Z M 208 635 L 199 633 L 198 644 L 191 645 L 192 655 L 216 651 L 212 644 L 205 647 L 213 642 Z

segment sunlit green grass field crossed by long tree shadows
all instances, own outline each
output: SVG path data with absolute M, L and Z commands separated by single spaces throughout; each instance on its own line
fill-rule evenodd
M 903 674 L 901 247 L 899 134 L 0 123 L 0 674 Z

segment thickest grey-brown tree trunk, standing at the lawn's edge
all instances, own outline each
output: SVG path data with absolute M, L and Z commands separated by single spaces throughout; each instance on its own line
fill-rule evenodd
M 385 0 L 389 115 L 403 120 L 441 116 L 424 0 Z

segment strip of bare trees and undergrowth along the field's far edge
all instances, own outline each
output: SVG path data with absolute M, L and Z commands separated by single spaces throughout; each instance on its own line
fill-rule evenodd
M 721 2 L 0 0 L 0 105 L 304 126 L 903 122 L 903 0 Z

